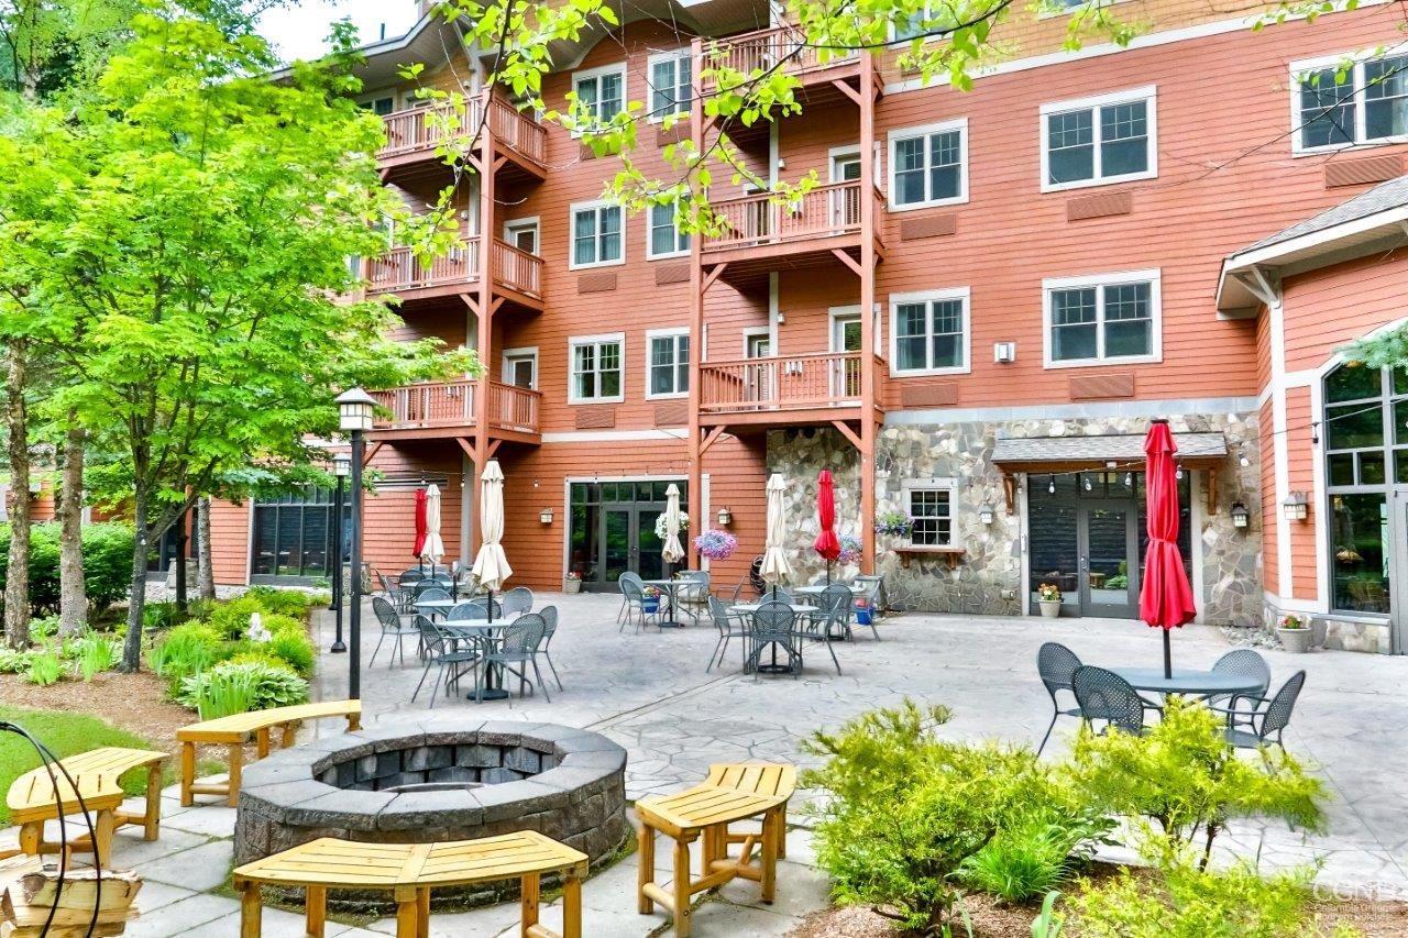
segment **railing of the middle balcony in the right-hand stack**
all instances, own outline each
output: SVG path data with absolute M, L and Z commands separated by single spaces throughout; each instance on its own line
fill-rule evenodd
M 860 231 L 860 199 L 862 185 L 852 180 L 817 186 L 794 203 L 779 203 L 766 193 L 717 201 L 714 211 L 725 230 L 705 238 L 704 251 L 855 234 Z

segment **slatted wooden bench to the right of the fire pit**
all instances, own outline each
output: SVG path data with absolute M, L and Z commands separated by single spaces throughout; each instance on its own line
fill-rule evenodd
M 777 855 L 786 837 L 787 799 L 797 772 L 788 765 L 728 766 L 710 769 L 708 780 L 679 794 L 642 799 L 635 803 L 639 831 L 639 911 L 649 915 L 659 903 L 674 917 L 674 934 L 690 934 L 690 899 L 734 877 L 758 880 L 765 903 L 773 901 L 777 884 Z M 762 820 L 756 834 L 729 834 L 735 821 Z M 674 882 L 670 892 L 655 883 L 655 835 L 674 839 Z M 690 844 L 704 838 L 700 877 L 690 875 Z M 731 844 L 741 844 L 729 856 Z M 753 862 L 753 849 L 759 861 Z

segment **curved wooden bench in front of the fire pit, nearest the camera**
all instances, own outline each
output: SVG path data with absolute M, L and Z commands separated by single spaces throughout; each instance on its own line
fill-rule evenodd
M 562 934 L 538 924 L 545 873 L 563 877 Z M 322 938 L 329 889 L 386 889 L 396 900 L 397 938 L 429 935 L 431 889 L 505 879 L 521 884 L 527 938 L 582 938 L 582 879 L 587 855 L 538 831 L 445 844 L 360 844 L 324 837 L 246 863 L 234 872 L 239 893 L 239 938 L 259 938 L 260 886 L 304 889 L 306 931 Z

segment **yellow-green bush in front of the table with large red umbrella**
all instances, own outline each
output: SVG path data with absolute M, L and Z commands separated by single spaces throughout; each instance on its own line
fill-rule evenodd
M 1325 784 L 1280 748 L 1238 758 L 1222 721 L 1201 703 L 1171 697 L 1148 735 L 1083 731 L 1067 772 L 1104 811 L 1157 821 L 1173 844 L 1202 837 L 1204 858 L 1226 823 L 1273 817 L 1324 825 Z

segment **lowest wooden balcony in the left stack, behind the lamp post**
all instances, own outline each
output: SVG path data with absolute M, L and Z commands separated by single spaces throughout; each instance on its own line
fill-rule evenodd
M 377 403 L 373 437 L 456 437 L 477 432 L 479 394 L 489 394 L 489 432 L 539 442 L 542 393 L 503 382 L 422 382 L 372 392 Z

